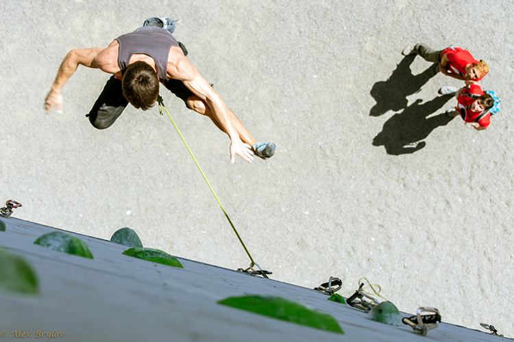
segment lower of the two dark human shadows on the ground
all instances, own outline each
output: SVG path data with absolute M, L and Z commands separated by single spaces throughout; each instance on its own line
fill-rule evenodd
M 393 115 L 384 123 L 382 131 L 373 140 L 374 146 L 384 146 L 389 155 L 415 153 L 426 146 L 424 140 L 440 126 L 452 121 L 445 113 L 430 116 L 443 107 L 453 95 L 438 96 L 420 105 L 421 99 L 408 106 L 399 114 Z

